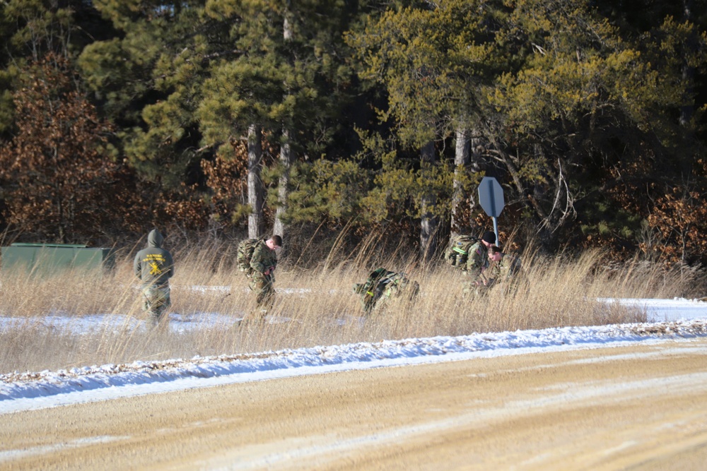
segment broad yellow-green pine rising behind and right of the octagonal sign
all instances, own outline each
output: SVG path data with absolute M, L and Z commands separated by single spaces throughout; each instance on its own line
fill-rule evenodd
M 677 36 L 624 38 L 585 1 L 518 1 L 511 18 L 525 61 L 491 95 L 509 131 L 498 142 L 514 143 L 497 152 L 542 243 L 556 246 L 577 220 L 597 243 L 635 237 L 646 189 L 682 167 L 674 116 L 690 93 L 681 54 L 665 53 Z

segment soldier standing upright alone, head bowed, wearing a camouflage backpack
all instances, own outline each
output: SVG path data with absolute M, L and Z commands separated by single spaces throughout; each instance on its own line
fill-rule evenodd
M 276 250 L 282 246 L 282 237 L 274 235 L 267 240 L 257 242 L 253 255 L 250 258 L 250 269 L 247 270 L 247 277 L 250 282 L 248 286 L 256 292 L 255 300 L 259 312 L 257 320 L 264 320 L 274 302 L 275 289 L 275 268 L 277 266 Z

